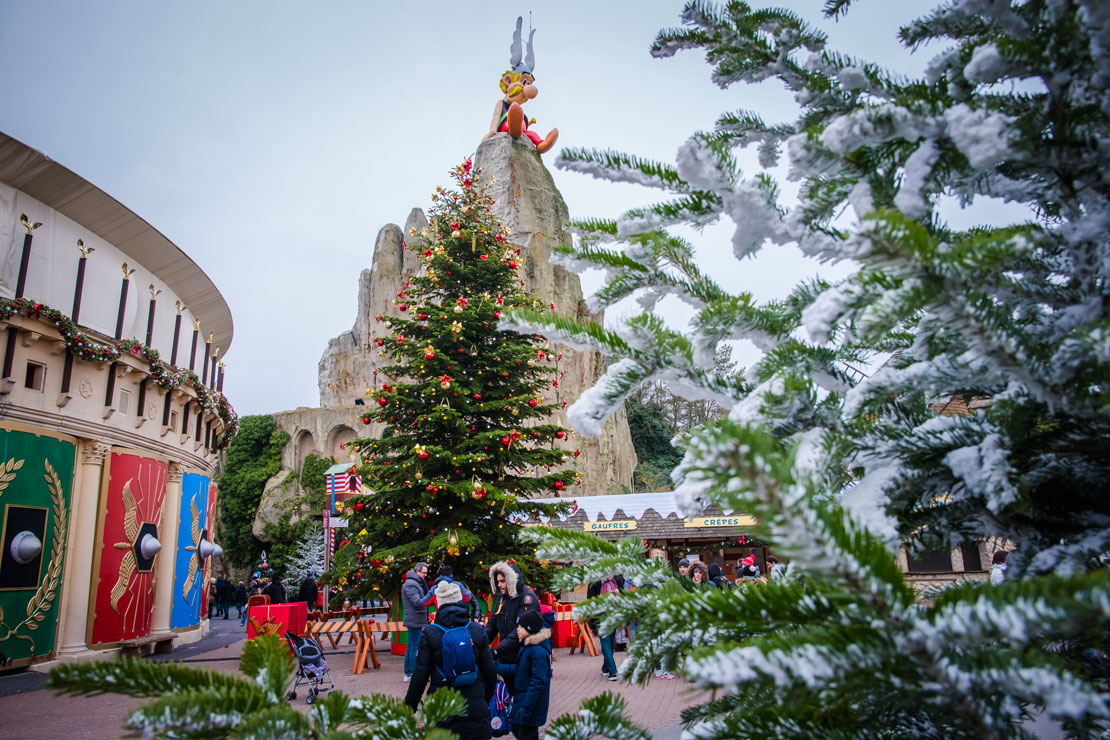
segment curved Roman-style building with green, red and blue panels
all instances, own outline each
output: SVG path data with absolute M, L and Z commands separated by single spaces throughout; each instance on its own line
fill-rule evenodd
M 170 240 L 0 133 L 0 670 L 206 631 L 231 311 Z

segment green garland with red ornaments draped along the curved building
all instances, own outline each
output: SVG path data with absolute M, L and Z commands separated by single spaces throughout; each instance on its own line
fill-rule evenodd
M 78 359 L 91 363 L 113 363 L 125 353 L 130 353 L 147 361 L 150 365 L 151 379 L 167 391 L 172 391 L 188 381 L 196 393 L 196 402 L 201 408 L 215 414 L 223 422 L 223 434 L 220 435 L 219 448 L 226 447 L 231 438 L 239 432 L 239 414 L 232 408 L 226 396 L 205 386 L 193 371 L 174 367 L 163 362 L 158 349 L 148 347 L 138 339 L 121 339 L 112 344 L 102 344 L 85 334 L 81 327 L 73 323 L 72 318 L 57 308 L 29 298 L 0 301 L 0 321 L 7 321 L 16 314 L 52 323 L 62 335 L 65 348 Z

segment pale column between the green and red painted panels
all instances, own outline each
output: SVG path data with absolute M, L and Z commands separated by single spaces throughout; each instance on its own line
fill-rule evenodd
M 92 564 L 97 550 L 100 481 L 110 449 L 108 445 L 94 439 L 81 439 L 78 443 L 78 468 L 73 477 L 70 530 L 65 541 L 65 572 L 58 611 L 60 660 L 88 651 L 84 636 L 92 589 Z

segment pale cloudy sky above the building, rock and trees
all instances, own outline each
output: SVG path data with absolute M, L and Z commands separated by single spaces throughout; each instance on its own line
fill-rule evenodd
M 819 24 L 830 48 L 904 73 L 919 73 L 935 53 L 910 57 L 896 38 L 931 3 L 859 0 L 838 22 L 820 18 L 821 0 L 774 4 Z M 722 90 L 700 53 L 653 59 L 652 40 L 678 26 L 680 11 L 656 0 L 531 9 L 3 0 L 0 131 L 119 200 L 213 280 L 234 316 L 224 391 L 241 415 L 315 406 L 317 362 L 354 324 L 359 273 L 379 230 L 426 209 L 487 131 L 518 14 L 525 36 L 529 13 L 536 29 L 539 95 L 525 112 L 541 134 L 559 130 L 544 159 L 574 219 L 616 217 L 665 194 L 556 170 L 563 146 L 673 162 L 725 111 L 794 119 L 777 82 Z M 703 266 L 734 292 L 768 300 L 846 270 L 793 247 L 741 264 L 728 233 L 722 225 L 689 236 Z M 754 359 L 749 349 L 738 349 L 741 364 Z

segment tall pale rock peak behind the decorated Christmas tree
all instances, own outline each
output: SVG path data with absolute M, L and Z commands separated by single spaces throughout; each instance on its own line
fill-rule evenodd
M 483 178 L 494 178 L 490 194 L 496 200 L 494 213 L 508 227 L 506 241 L 521 247 L 522 277 L 525 290 L 545 304 L 555 304 L 555 311 L 565 316 L 586 311 L 578 276 L 561 265 L 551 263 L 552 247 L 569 242 L 563 224 L 567 207 L 555 187 L 551 172 L 544 166 L 531 141 L 514 141 L 508 134 L 497 134 L 478 146 L 475 164 Z M 421 270 L 421 262 L 402 243 L 412 233 L 427 225 L 423 211 L 414 209 L 402 231 L 394 224 L 382 227 L 374 244 L 370 270 L 359 276 L 359 313 L 349 332 L 327 343 L 320 359 L 320 404 L 324 407 L 351 406 L 363 398 L 367 388 L 380 382 L 374 369 L 385 364 L 379 355 L 375 330 L 384 332 L 374 316 L 396 316 L 393 298 L 405 283 L 405 277 Z M 601 316 L 594 316 L 601 321 Z M 605 359 L 596 352 L 575 352 L 556 347 L 563 353 L 559 387 L 549 393 L 558 402 L 573 403 L 605 372 Z M 567 425 L 565 412 L 561 422 Z M 381 434 L 379 425 L 363 427 L 372 436 Z M 582 487 L 571 491 L 574 496 L 620 493 L 636 466 L 636 453 L 628 434 L 624 410 L 615 414 L 601 436 L 584 439 L 572 436 L 571 448 L 582 456 L 576 467 L 582 473 Z

